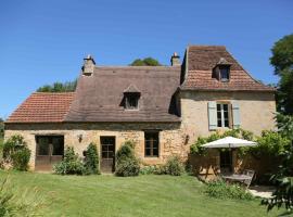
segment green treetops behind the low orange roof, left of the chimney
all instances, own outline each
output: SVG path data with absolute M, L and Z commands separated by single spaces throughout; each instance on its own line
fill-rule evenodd
M 54 82 L 53 85 L 46 85 L 40 87 L 37 92 L 72 92 L 75 91 L 77 79 L 67 82 Z

